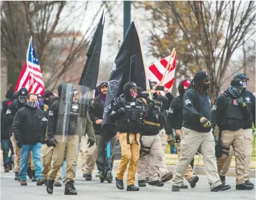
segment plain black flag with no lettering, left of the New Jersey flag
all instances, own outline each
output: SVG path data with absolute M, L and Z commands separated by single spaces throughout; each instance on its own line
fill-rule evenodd
M 95 89 L 97 85 L 104 22 L 105 16 L 103 10 L 102 16 L 100 17 L 99 25 L 95 31 L 93 40 L 91 41 L 91 45 L 89 46 L 89 49 L 87 51 L 86 64 L 84 65 L 84 70 L 79 81 L 79 85 L 87 86 L 91 89 L 91 91 Z

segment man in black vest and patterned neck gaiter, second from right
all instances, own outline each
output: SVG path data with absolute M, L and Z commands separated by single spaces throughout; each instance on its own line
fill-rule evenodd
M 217 155 L 218 173 L 222 170 L 229 148 L 235 151 L 237 186 L 236 190 L 251 190 L 253 183 L 246 182 L 245 152 L 246 135 L 242 127 L 247 122 L 251 124 L 251 111 L 248 110 L 241 96 L 242 80 L 234 78 L 229 88 L 215 100 L 211 122 L 213 128 L 218 125 L 219 138 L 222 145 L 222 155 Z

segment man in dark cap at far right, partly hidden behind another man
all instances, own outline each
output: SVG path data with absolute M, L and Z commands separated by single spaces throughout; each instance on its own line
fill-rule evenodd
M 246 107 L 251 111 L 252 118 L 251 120 L 247 120 L 242 125 L 242 129 L 244 131 L 244 137 L 246 138 L 245 142 L 245 148 L 246 148 L 246 183 L 251 183 L 250 181 L 250 166 L 251 166 L 251 152 L 253 150 L 253 129 L 251 122 L 255 124 L 255 96 L 250 91 L 246 90 L 247 82 L 250 80 L 246 74 L 237 74 L 234 76 L 234 78 L 239 78 L 242 80 L 243 83 L 243 89 L 241 92 L 242 98 L 244 98 L 246 102 Z M 232 146 L 230 146 L 229 150 L 229 156 L 226 158 L 226 161 L 224 162 L 224 165 L 222 167 L 222 170 L 220 172 L 220 180 L 222 180 L 222 183 L 225 183 L 226 179 L 226 173 L 229 171 L 229 167 L 232 161 L 232 157 L 234 155 L 234 150 Z

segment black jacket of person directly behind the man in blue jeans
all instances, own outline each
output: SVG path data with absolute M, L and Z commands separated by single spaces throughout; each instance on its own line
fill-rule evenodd
M 10 105 L 8 106 L 8 109 L 7 109 L 6 115 L 5 115 L 5 120 L 8 124 L 8 126 L 9 126 L 9 129 L 10 129 L 10 131 L 9 131 L 9 136 L 10 137 L 12 136 L 11 128 L 12 128 L 12 122 L 14 120 L 14 116 L 16 115 L 17 111 L 19 109 L 21 109 L 21 107 L 23 107 L 23 106 L 24 106 L 24 104 L 21 104 L 19 102 L 19 100 L 17 100 L 17 99 L 14 100 L 13 102 L 11 102 Z

